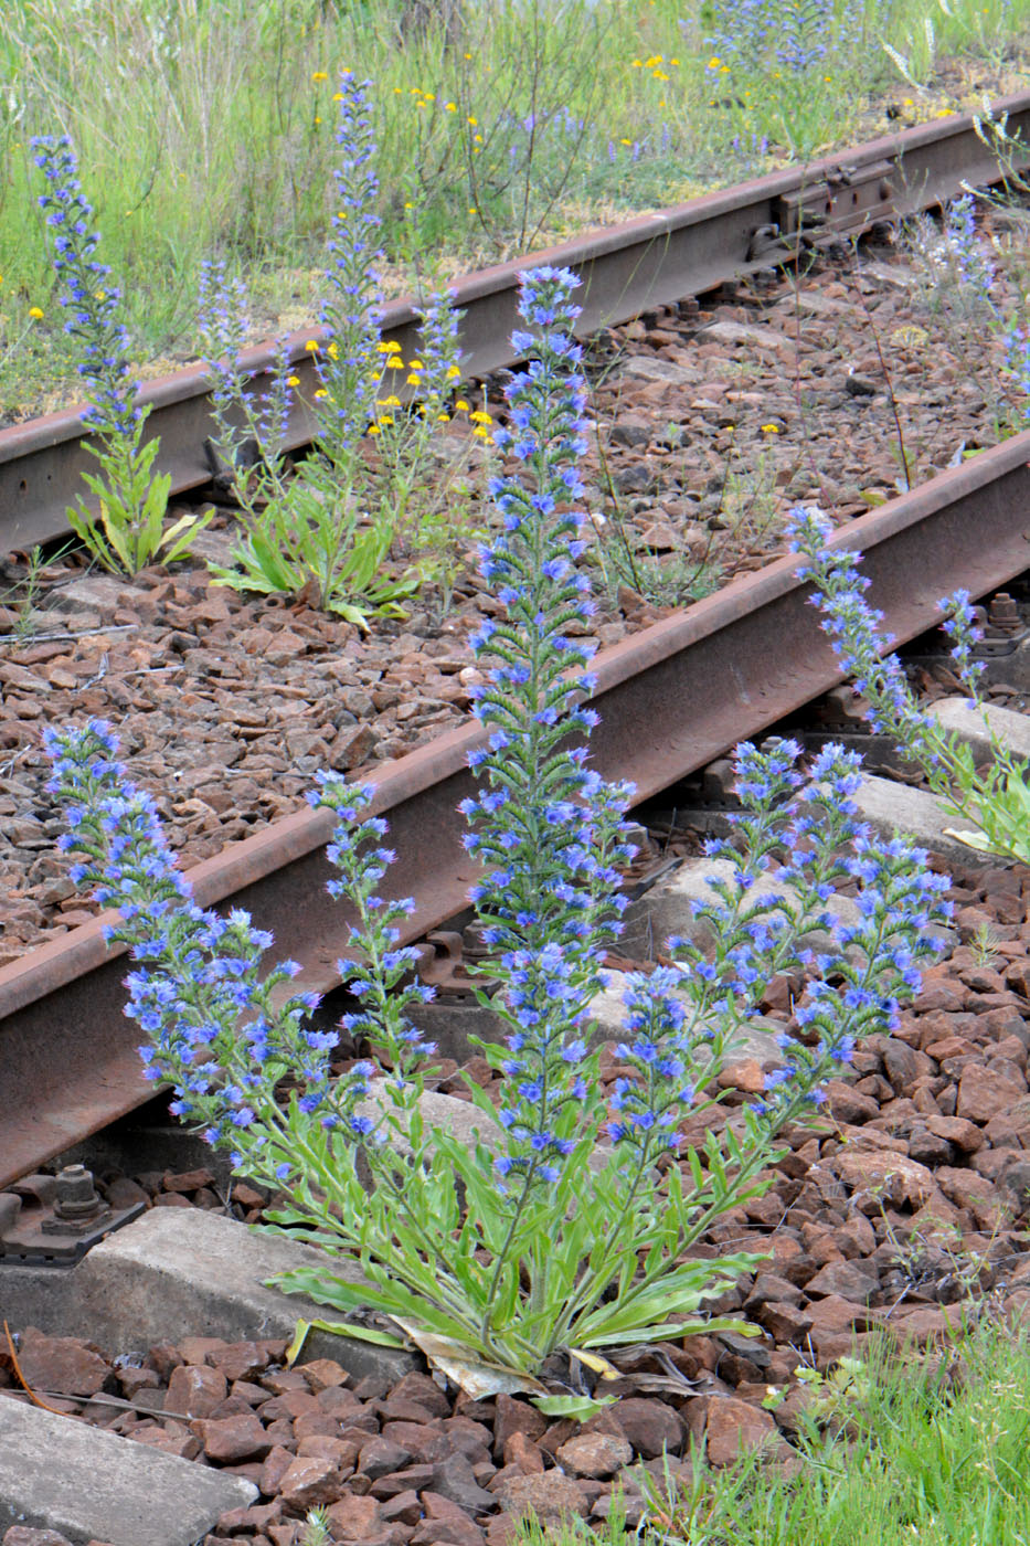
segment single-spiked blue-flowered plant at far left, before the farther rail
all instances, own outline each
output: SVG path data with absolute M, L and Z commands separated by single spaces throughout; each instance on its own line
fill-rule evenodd
M 71 141 L 43 135 L 32 139 L 32 150 L 46 182 L 39 204 L 54 241 L 65 332 L 79 354 L 76 369 L 88 397 L 82 422 L 93 433 L 85 445 L 99 467 L 96 475 L 82 475 L 99 510 L 80 499 L 68 509 L 68 521 L 105 569 L 135 575 L 155 560 L 181 558 L 210 515 L 184 515 L 165 526 L 172 478 L 153 470 L 159 441 L 142 441 L 148 410 L 136 402 L 121 291 L 107 281 L 108 264 L 94 257 L 101 238 Z

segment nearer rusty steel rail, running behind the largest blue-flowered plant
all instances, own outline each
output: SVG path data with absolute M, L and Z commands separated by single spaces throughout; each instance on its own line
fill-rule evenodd
M 835 533 L 834 546 L 866 555 L 871 600 L 899 640 L 933 626 L 956 586 L 982 595 L 1030 566 L 1028 458 L 1025 433 Z M 599 654 L 600 771 L 643 799 L 840 682 L 807 597 L 784 558 Z M 371 775 L 371 809 L 399 853 L 391 894 L 416 901 L 405 943 L 466 906 L 473 866 L 458 802 L 481 736 L 453 730 Z M 319 991 L 339 983 L 350 923 L 325 895 L 329 827 L 326 812 L 305 810 L 190 870 L 203 904 L 247 908 L 274 931 L 274 959 L 295 957 Z M 121 1013 L 125 962 L 102 923 L 0 969 L 0 1189 L 153 1093 Z

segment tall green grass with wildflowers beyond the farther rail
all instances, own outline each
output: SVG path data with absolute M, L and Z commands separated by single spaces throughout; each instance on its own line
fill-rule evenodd
M 397 292 L 427 269 L 453 277 L 888 127 L 869 113 L 875 93 L 899 122 L 977 102 L 1030 19 L 1030 0 L 837 0 L 851 31 L 834 23 L 793 80 L 769 51 L 713 68 L 710 5 L 8 0 L 0 414 L 56 407 L 70 386 L 32 135 L 71 136 L 139 359 L 170 369 L 192 357 L 204 257 L 247 277 L 255 339 L 317 311 L 343 68 L 376 82 Z

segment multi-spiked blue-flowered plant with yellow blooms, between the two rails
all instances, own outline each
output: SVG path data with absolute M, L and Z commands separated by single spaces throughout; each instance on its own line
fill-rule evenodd
M 232 552 L 232 563 L 210 567 L 215 584 L 266 595 L 303 594 L 323 611 L 367 628 L 373 614 L 401 614 L 402 600 L 421 580 L 418 570 L 394 577 L 388 558 L 397 524 L 407 513 L 405 504 L 425 475 L 425 431 L 408 436 L 405 448 L 411 455 L 405 458 L 397 451 L 390 465 L 393 476 L 376 490 L 363 442 L 367 434 L 384 438 L 385 425 L 393 425 L 393 404 L 399 408 L 401 400 L 377 396 L 393 354 L 379 337 L 379 292 L 370 267 L 379 220 L 367 88 L 348 74 L 339 99 L 342 164 L 336 173 L 337 212 L 329 240 L 329 300 L 322 315 L 328 339 L 322 349 L 315 340 L 309 342 L 309 351 L 319 357 L 320 380 L 314 399 L 314 450 L 295 468 L 289 468 L 283 456 L 295 385 L 285 340 L 280 340 L 268 391 L 261 396 L 249 391 L 238 365 L 246 335 L 246 294 L 237 278 L 227 277 L 223 263 L 204 266 L 200 309 L 213 377 L 215 450 L 246 512 L 244 535 Z M 431 317 L 425 322 L 430 349 L 435 349 L 436 334 L 447 331 L 444 314 L 448 309 L 444 305 L 427 312 L 427 318 Z M 438 352 L 428 357 L 439 369 L 430 371 L 427 402 L 431 407 L 414 421 L 422 425 L 427 416 L 435 424 L 442 414 L 444 383 L 452 369 L 456 371 L 453 359 L 441 362 Z M 421 374 L 410 368 L 408 382 L 418 386 Z M 402 482 L 402 468 L 407 482 Z

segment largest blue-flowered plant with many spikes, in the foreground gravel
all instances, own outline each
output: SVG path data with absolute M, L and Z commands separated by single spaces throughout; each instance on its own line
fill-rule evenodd
M 77 856 L 76 878 L 119 909 L 110 937 L 135 960 L 130 1013 L 147 1033 L 150 1078 L 175 1085 L 175 1110 L 227 1146 L 237 1170 L 285 1195 L 268 1215 L 277 1228 L 328 1251 L 325 1268 L 283 1285 L 343 1311 L 359 1336 L 370 1334 L 362 1311 L 385 1313 L 458 1377 L 478 1360 L 496 1388 L 527 1388 L 551 1411 L 583 1410 L 582 1398 L 546 1393 L 554 1354 L 578 1351 L 603 1370 L 588 1350 L 725 1325 L 704 1320 L 704 1300 L 756 1257 L 701 1258 L 693 1248 L 764 1190 L 778 1132 L 818 1105 L 855 1039 L 889 1025 L 946 912 L 946 883 L 925 855 L 878 846 L 855 822 L 854 758 L 826 748 L 804 776 L 790 744 L 742 747 L 744 813 L 699 909 L 715 945 L 674 943 L 674 966 L 622 979 L 623 1073 L 605 1096 L 591 999 L 619 928 L 628 790 L 605 784 L 586 751 L 595 716 L 583 673 L 591 601 L 577 572 L 574 284 L 563 269 L 523 278 L 515 348 L 530 363 L 507 388 L 506 441 L 518 472 L 493 485 L 504 530 L 483 550 L 504 617 L 475 638 L 486 680 L 466 815 L 484 863 L 473 890 L 490 949 L 483 999 L 504 1045 L 484 1048 L 503 1076 L 500 1105 L 470 1087 L 478 1141 L 427 1132 L 422 1119 L 433 1050 L 411 1011 L 427 989 L 410 980 L 402 945 L 413 903 L 384 900 L 393 853 L 385 822 L 367 815 L 374 788 L 323 775 L 311 796 L 334 815 L 328 855 L 340 878 L 329 890 L 354 918 L 339 969 L 359 1008 L 343 1023 L 388 1070 L 374 1079 L 360 1062 L 337 1079 L 334 1033 L 305 1019 L 312 1000 L 278 1003 L 294 965 L 261 979 L 268 935 L 243 914 L 223 920 L 193 904 L 107 727 L 48 734 L 53 788 L 68 805 L 62 846 Z M 766 894 L 755 883 L 779 860 L 792 886 Z M 846 926 L 826 906 L 840 881 L 857 892 Z M 764 1095 L 722 1136 L 685 1147 L 682 1121 L 711 1104 L 727 1045 L 769 979 L 796 966 L 809 974 L 801 1034 L 784 1031 Z

